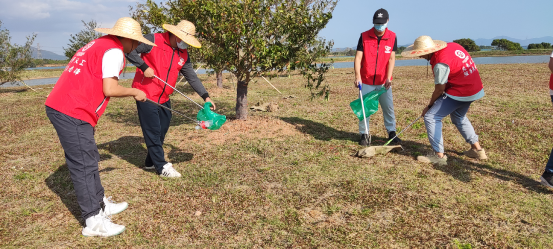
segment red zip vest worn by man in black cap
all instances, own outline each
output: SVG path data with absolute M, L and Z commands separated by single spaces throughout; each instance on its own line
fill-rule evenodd
M 383 85 L 386 82 L 388 61 L 395 43 L 395 33 L 388 28 L 378 44 L 374 27 L 361 34 L 363 39 L 363 59 L 361 60 L 361 80 L 367 85 Z

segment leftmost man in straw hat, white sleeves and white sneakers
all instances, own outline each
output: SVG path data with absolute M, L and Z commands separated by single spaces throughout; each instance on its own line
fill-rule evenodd
M 127 209 L 127 203 L 114 203 L 106 198 L 98 173 L 100 154 L 94 140 L 96 123 L 106 110 L 109 97 L 134 97 L 145 101 L 138 89 L 118 85 L 124 68 L 124 53 L 140 43 L 140 24 L 130 17 L 115 23 L 112 29 L 99 28 L 108 35 L 93 40 L 79 49 L 46 98 L 46 115 L 58 133 L 64 148 L 65 161 L 71 174 L 77 202 L 86 227 L 84 236 L 114 236 L 125 226 L 113 224 L 108 216 Z M 152 44 L 154 45 L 154 44 Z

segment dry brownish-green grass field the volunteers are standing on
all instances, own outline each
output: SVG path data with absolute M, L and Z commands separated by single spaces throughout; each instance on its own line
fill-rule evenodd
M 0 89 L 0 247 L 4 248 L 551 248 L 553 190 L 539 184 L 553 144 L 545 64 L 481 65 L 486 96 L 468 112 L 489 160 L 468 149 L 444 120 L 448 165 L 416 162 L 430 152 L 423 122 L 401 135 L 405 151 L 354 158 L 357 98 L 352 69 L 328 74 L 330 100 L 309 101 L 300 76 L 258 81 L 249 105 L 278 112 L 233 120 L 236 93 L 201 76 L 229 121 L 197 131 L 174 116 L 166 157 L 183 175 L 162 179 L 142 169 L 146 149 L 131 98 L 112 98 L 96 131 L 107 196 L 127 201 L 110 238 L 81 236 L 80 209 L 64 152 L 44 111 L 45 96 Z M 227 75 L 225 75 L 227 76 Z M 431 76 L 430 76 L 431 77 Z M 394 72 L 398 129 L 427 105 L 424 66 Z M 129 86 L 129 82 L 124 82 Z M 179 89 L 197 101 L 189 86 Z M 286 96 L 296 96 L 289 100 Z M 194 104 L 174 95 L 173 107 Z M 371 121 L 383 144 L 382 112 Z

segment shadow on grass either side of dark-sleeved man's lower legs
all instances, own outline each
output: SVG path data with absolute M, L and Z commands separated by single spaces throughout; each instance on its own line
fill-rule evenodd
M 111 153 L 101 154 L 100 160 L 112 158 L 114 155 L 126 160 L 128 163 L 138 168 L 143 168 L 146 156 L 148 155 L 148 150 L 144 148 L 145 146 L 143 146 L 143 144 L 144 138 L 137 136 L 120 137 L 114 141 L 98 144 L 98 149 L 103 149 Z M 163 146 L 171 149 L 169 154 L 167 154 L 167 157 L 169 158 L 169 162 L 174 164 L 188 162 L 192 160 L 192 157 L 194 156 L 194 154 L 181 151 L 181 149 L 173 146 L 172 144 L 164 144 Z M 106 168 L 100 170 L 100 172 L 103 172 L 103 170 L 106 170 L 107 172 L 113 169 Z

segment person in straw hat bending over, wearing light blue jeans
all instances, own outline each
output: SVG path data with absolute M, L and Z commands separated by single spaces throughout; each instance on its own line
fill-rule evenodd
M 471 149 L 465 151 L 467 157 L 487 159 L 486 152 L 478 143 L 471 121 L 467 118 L 471 103 L 484 97 L 484 86 L 476 64 L 461 45 L 446 43 L 423 35 L 406 48 L 404 57 L 420 57 L 430 61 L 434 71 L 434 93 L 422 116 L 428 139 L 434 153 L 426 157 L 419 155 L 417 160 L 426 163 L 447 164 L 442 138 L 442 119 L 451 115 L 451 122 L 457 127 Z

